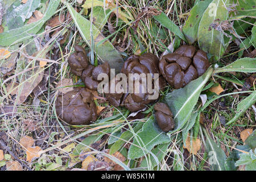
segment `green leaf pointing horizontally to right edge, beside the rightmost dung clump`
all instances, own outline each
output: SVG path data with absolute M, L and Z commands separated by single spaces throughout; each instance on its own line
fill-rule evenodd
M 244 57 L 238 59 L 231 64 L 226 65 L 222 68 L 217 68 L 214 73 L 221 72 L 244 72 L 253 73 L 256 72 L 256 58 Z

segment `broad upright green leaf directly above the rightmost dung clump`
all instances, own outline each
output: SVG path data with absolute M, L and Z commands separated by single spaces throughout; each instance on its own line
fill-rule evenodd
M 216 19 L 222 21 L 228 18 L 228 10 L 226 9 L 228 5 L 229 1 L 213 0 L 204 11 L 199 23 L 197 34 L 199 47 L 213 55 L 214 59 L 218 59 L 224 54 L 227 45 L 224 42 L 224 34 L 210 28 L 210 24 Z

